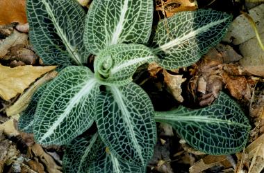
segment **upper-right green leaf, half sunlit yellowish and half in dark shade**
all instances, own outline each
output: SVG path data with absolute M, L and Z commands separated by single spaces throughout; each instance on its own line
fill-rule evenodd
M 154 53 L 165 69 L 177 69 L 197 62 L 226 34 L 232 16 L 215 10 L 178 12 L 158 23 Z

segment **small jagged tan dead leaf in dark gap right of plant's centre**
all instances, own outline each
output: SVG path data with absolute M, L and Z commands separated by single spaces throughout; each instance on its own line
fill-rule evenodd
M 163 70 L 164 82 L 167 84 L 167 88 L 172 93 L 174 98 L 179 102 L 183 102 L 183 97 L 181 96 L 181 84 L 186 80 L 183 79 L 183 75 L 172 75 L 168 73 L 165 69 Z

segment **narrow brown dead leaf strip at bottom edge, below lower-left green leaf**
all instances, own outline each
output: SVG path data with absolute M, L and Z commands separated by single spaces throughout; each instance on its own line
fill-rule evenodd
M 31 150 L 33 151 L 35 156 L 38 156 L 40 158 L 40 161 L 44 163 L 44 165 L 47 167 L 48 172 L 61 173 L 62 167 L 58 166 L 53 158 L 49 156 L 49 154 L 44 152 L 39 144 L 35 143 L 31 147 Z

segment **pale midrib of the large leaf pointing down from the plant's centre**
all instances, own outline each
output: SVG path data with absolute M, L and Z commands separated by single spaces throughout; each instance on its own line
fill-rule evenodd
M 116 86 L 111 86 L 110 87 L 112 93 L 113 93 L 113 96 L 117 102 L 117 104 L 119 105 L 119 108 L 122 112 L 122 117 L 123 117 L 123 120 L 124 122 L 126 122 L 126 127 L 129 128 L 129 131 L 131 133 L 130 136 L 131 136 L 131 140 L 132 140 L 132 143 L 135 147 L 135 150 L 137 150 L 139 156 L 140 156 L 140 160 L 142 161 L 142 163 L 144 163 L 144 158 L 142 157 L 142 152 L 141 152 L 141 148 L 140 148 L 140 145 L 138 144 L 138 140 L 137 138 L 135 138 L 135 132 L 133 130 L 133 127 L 131 126 L 131 122 L 129 120 L 129 111 L 126 109 L 126 105 L 124 104 L 124 101 L 123 101 L 123 98 L 122 98 L 122 93 L 120 93 L 119 89 L 116 87 Z

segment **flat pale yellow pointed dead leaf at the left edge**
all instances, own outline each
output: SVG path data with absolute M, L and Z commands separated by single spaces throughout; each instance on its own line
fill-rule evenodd
M 10 100 L 41 75 L 56 69 L 56 66 L 17 66 L 10 68 L 0 64 L 0 97 Z

